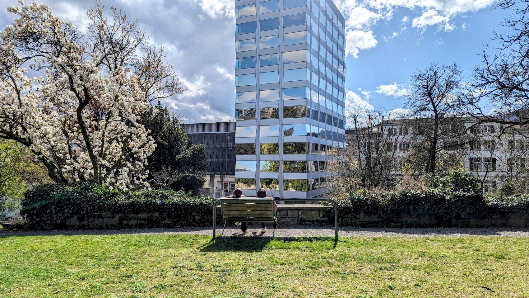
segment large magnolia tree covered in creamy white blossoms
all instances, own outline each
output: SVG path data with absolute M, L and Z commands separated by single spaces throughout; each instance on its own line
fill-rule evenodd
M 47 4 L 9 6 L 0 32 L 0 138 L 28 147 L 54 182 L 147 186 L 155 148 L 140 115 L 183 92 L 162 49 L 124 13 L 96 3 L 86 33 Z

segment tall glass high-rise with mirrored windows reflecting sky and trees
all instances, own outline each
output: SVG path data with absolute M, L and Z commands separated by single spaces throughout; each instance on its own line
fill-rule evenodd
M 344 19 L 331 0 L 235 1 L 235 183 L 325 192 L 344 140 Z

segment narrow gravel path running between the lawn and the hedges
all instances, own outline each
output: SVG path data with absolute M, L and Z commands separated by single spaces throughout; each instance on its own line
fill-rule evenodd
M 217 227 L 217 234 L 222 232 L 222 225 Z M 54 230 L 54 231 L 2 231 L 0 237 L 5 236 L 52 236 L 52 235 L 115 235 L 115 234 L 201 234 L 212 235 L 213 227 L 202 228 L 168 228 L 168 229 L 122 229 L 122 230 Z M 513 236 L 529 237 L 529 228 L 356 228 L 339 227 L 340 237 L 468 237 L 468 236 Z M 239 227 L 231 224 L 226 227 L 224 236 L 259 237 L 260 225 L 249 225 L 248 233 L 242 234 Z M 272 236 L 272 229 L 268 229 L 264 236 Z M 279 227 L 278 237 L 329 236 L 334 237 L 334 226 L 317 227 L 313 225 L 291 225 Z

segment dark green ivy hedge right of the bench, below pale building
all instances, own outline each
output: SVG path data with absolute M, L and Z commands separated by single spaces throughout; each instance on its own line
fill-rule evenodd
M 435 226 L 451 227 L 458 225 L 460 219 L 509 218 L 529 211 L 529 195 L 484 197 L 479 179 L 463 171 L 454 170 L 446 176 L 427 176 L 426 179 L 428 191 L 396 194 L 358 191 L 342 197 L 339 222 L 355 225 L 354 216 L 347 215 L 361 214 L 385 220 L 428 218 Z M 393 226 L 394 223 L 377 222 L 376 225 Z

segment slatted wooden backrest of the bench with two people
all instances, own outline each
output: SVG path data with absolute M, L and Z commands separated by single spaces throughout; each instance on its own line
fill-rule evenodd
M 227 221 L 273 221 L 273 199 L 239 198 L 221 200 L 222 219 Z

